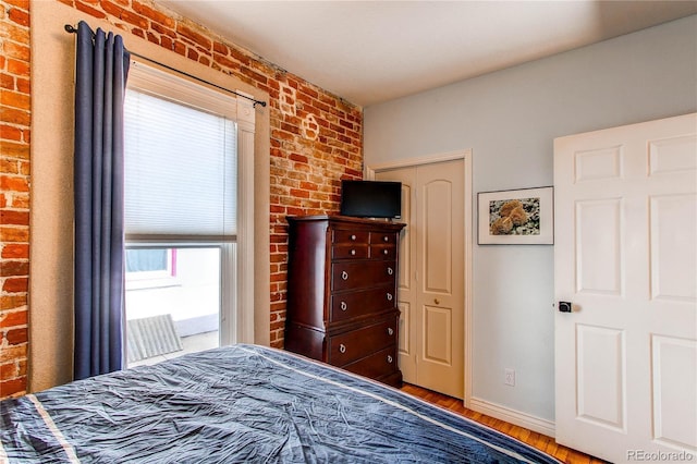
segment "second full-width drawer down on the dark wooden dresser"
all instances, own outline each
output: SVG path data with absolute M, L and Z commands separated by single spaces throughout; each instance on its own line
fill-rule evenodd
M 329 321 L 339 322 L 393 308 L 394 284 L 371 290 L 332 293 L 330 298 Z

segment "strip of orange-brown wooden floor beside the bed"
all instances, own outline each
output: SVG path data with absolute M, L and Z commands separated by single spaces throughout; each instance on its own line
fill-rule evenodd
M 604 461 L 597 457 L 589 456 L 579 451 L 572 450 L 570 448 L 557 444 L 551 437 L 543 436 L 536 431 L 525 429 L 523 427 L 515 426 L 513 424 L 505 423 L 503 420 L 494 419 L 490 416 L 476 413 L 472 410 L 465 408 L 462 400 L 456 398 L 447 396 L 444 394 L 436 393 L 431 390 L 426 390 L 420 387 L 416 387 L 409 383 L 404 383 L 402 391 L 405 393 L 418 396 L 429 403 L 437 404 L 441 407 L 450 410 L 469 419 L 476 420 L 480 424 L 485 424 L 493 429 L 497 429 L 505 435 L 510 435 L 538 450 L 545 451 L 548 454 L 557 457 L 560 461 L 570 464 L 604 464 Z

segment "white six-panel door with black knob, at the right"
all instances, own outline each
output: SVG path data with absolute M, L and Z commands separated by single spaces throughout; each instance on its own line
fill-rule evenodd
M 696 132 L 554 141 L 557 441 L 612 462 L 697 455 Z

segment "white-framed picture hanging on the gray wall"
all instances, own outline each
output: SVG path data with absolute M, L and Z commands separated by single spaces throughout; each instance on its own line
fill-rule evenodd
M 552 187 L 479 192 L 480 245 L 554 243 Z

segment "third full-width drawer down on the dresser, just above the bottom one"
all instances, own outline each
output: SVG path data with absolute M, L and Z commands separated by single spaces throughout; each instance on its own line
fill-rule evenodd
M 390 316 L 382 322 L 331 337 L 329 364 L 341 367 L 395 344 L 396 317 Z

